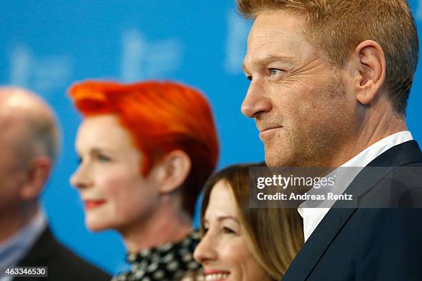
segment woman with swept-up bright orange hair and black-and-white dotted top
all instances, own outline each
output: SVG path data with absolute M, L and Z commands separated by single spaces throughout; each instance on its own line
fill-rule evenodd
M 192 214 L 218 156 L 204 96 L 156 81 L 86 81 L 72 85 L 70 96 L 84 117 L 71 183 L 86 225 L 119 231 L 132 264 L 114 280 L 177 280 L 196 270 Z

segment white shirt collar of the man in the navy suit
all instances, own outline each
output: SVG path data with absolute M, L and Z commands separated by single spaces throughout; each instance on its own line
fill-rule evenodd
M 348 160 L 348 162 L 344 163 L 340 167 L 355 167 L 354 169 L 343 169 L 343 171 L 339 171 L 336 173 L 336 194 L 342 194 L 345 189 L 348 188 L 350 183 L 354 180 L 354 178 L 359 174 L 359 172 L 368 165 L 372 160 L 376 157 L 383 154 L 383 152 L 387 151 L 391 147 L 395 145 L 399 145 L 401 143 L 405 143 L 406 141 L 411 141 L 412 134 L 409 131 L 403 131 L 396 134 L 392 134 L 386 138 L 377 141 L 370 147 L 367 147 L 362 152 L 354 156 L 352 159 Z M 347 170 L 347 173 L 344 171 Z M 335 173 L 334 170 L 332 173 Z M 330 173 L 330 174 L 332 174 Z M 312 187 L 308 193 L 312 194 L 312 191 L 315 188 Z M 303 234 L 305 237 L 305 241 L 311 236 L 312 232 L 316 229 L 319 225 L 319 222 L 324 218 L 325 214 L 330 211 L 330 207 L 334 204 L 334 200 L 331 200 L 329 203 L 325 201 L 325 206 L 328 207 L 319 207 L 319 208 L 307 208 L 305 206 L 306 202 L 303 202 L 299 205 L 298 211 L 299 214 L 303 218 Z M 304 204 L 305 203 L 305 204 Z M 1 281 L 1 280 L 0 280 Z

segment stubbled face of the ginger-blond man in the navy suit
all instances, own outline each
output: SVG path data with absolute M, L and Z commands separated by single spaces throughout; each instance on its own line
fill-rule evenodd
M 248 38 L 243 68 L 251 82 L 242 112 L 255 119 L 270 167 L 330 167 L 352 131 L 348 78 L 301 28 L 303 16 L 261 12 Z

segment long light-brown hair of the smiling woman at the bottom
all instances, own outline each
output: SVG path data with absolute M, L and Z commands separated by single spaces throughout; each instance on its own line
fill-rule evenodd
M 257 166 L 263 164 L 233 165 L 211 176 L 205 184 L 200 230 L 203 234 L 212 187 L 224 180 L 237 206 L 248 249 L 274 280 L 280 280 L 303 246 L 303 222 L 297 209 L 249 207 L 249 168 Z

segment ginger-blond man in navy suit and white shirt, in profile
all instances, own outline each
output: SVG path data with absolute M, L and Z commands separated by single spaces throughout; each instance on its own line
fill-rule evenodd
M 241 110 L 257 123 L 267 165 L 359 167 L 336 180 L 358 208 L 299 207 L 306 242 L 283 280 L 422 280 L 422 209 L 397 208 L 420 202 L 422 183 L 405 123 L 419 56 L 407 1 L 237 4 L 254 20 Z

